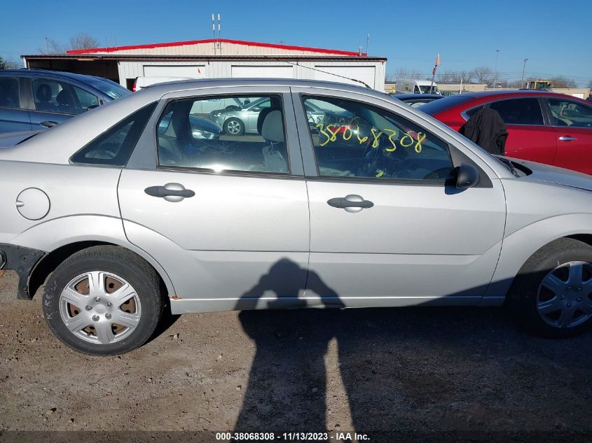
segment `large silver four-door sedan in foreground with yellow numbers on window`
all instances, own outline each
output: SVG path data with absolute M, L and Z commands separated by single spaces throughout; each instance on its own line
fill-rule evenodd
M 196 130 L 248 97 L 270 105 L 253 136 Z M 176 82 L 28 137 L 0 149 L 0 269 L 22 299 L 45 283 L 50 330 L 84 353 L 142 346 L 164 309 L 505 302 L 546 337 L 592 323 L 592 177 L 492 157 L 380 92 Z

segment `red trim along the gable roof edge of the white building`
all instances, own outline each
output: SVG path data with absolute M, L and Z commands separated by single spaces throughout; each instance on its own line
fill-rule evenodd
M 116 51 L 121 51 L 121 50 L 130 50 L 130 49 L 168 48 L 170 46 L 195 45 L 198 43 L 214 43 L 214 41 L 219 41 L 221 43 L 235 43 L 236 45 L 259 46 L 260 48 L 300 50 L 300 51 L 309 51 L 309 52 L 319 52 L 320 54 L 350 55 L 352 57 L 359 56 L 359 54 L 354 51 L 342 51 L 342 50 L 336 50 L 336 49 L 323 49 L 323 48 L 308 48 L 306 46 L 279 45 L 279 44 L 275 44 L 275 43 L 259 43 L 256 41 L 228 40 L 226 38 L 208 38 L 206 40 L 173 41 L 170 43 L 153 43 L 151 45 L 131 45 L 131 46 L 116 46 L 116 47 L 111 46 L 109 48 L 71 49 L 66 52 L 68 54 L 92 54 L 94 52 L 116 52 Z M 366 52 L 362 52 L 362 56 L 366 56 Z

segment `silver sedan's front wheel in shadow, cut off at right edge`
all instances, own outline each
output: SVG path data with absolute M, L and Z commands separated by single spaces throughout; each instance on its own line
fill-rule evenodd
M 512 314 L 542 337 L 574 337 L 588 330 L 592 326 L 591 264 L 592 247 L 576 239 L 558 239 L 539 249 L 511 285 L 507 304 Z

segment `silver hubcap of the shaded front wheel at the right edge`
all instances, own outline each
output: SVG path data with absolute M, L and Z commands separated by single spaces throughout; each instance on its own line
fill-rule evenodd
M 592 317 L 592 265 L 568 262 L 546 274 L 539 286 L 539 316 L 556 328 L 574 328 Z

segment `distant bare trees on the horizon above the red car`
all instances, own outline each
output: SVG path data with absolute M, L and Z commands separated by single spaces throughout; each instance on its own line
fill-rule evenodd
M 395 73 L 387 73 L 385 80 L 387 82 L 394 82 L 397 78 L 406 78 L 410 80 L 432 80 L 432 76 L 420 73 L 416 69 L 400 68 Z M 500 73 L 495 72 L 489 66 L 478 66 L 472 71 L 445 71 L 436 73 L 436 83 L 479 83 L 480 85 L 488 85 L 488 87 L 521 87 L 525 86 L 528 77 L 525 77 L 524 83 L 522 80 L 507 80 L 500 76 Z M 551 87 L 577 87 L 577 83 L 571 78 L 564 76 L 553 76 L 551 78 L 544 78 L 544 80 L 551 81 Z M 592 89 L 592 80 L 588 83 L 588 87 Z

